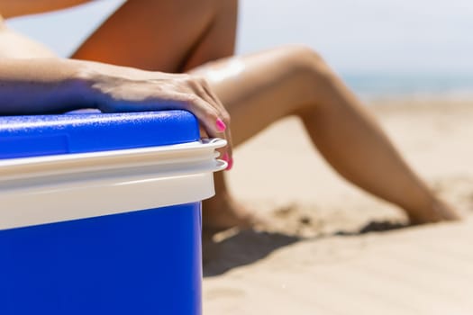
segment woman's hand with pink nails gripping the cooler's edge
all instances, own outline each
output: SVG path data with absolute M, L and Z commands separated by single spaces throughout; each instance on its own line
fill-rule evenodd
M 226 139 L 221 157 L 232 167 L 230 115 L 204 78 L 123 68 L 117 73 L 95 72 L 92 89 L 103 112 L 182 109 L 193 112 L 210 138 Z

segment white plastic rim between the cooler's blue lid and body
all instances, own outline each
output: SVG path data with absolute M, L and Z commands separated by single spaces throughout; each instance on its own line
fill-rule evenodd
M 200 202 L 223 139 L 0 160 L 0 229 Z

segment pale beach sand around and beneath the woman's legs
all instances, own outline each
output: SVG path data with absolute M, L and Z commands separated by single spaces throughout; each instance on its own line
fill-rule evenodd
M 300 121 L 277 122 L 235 152 L 232 192 L 267 224 L 205 241 L 205 315 L 473 314 L 473 102 L 369 105 L 466 219 L 405 227 L 327 166 Z

